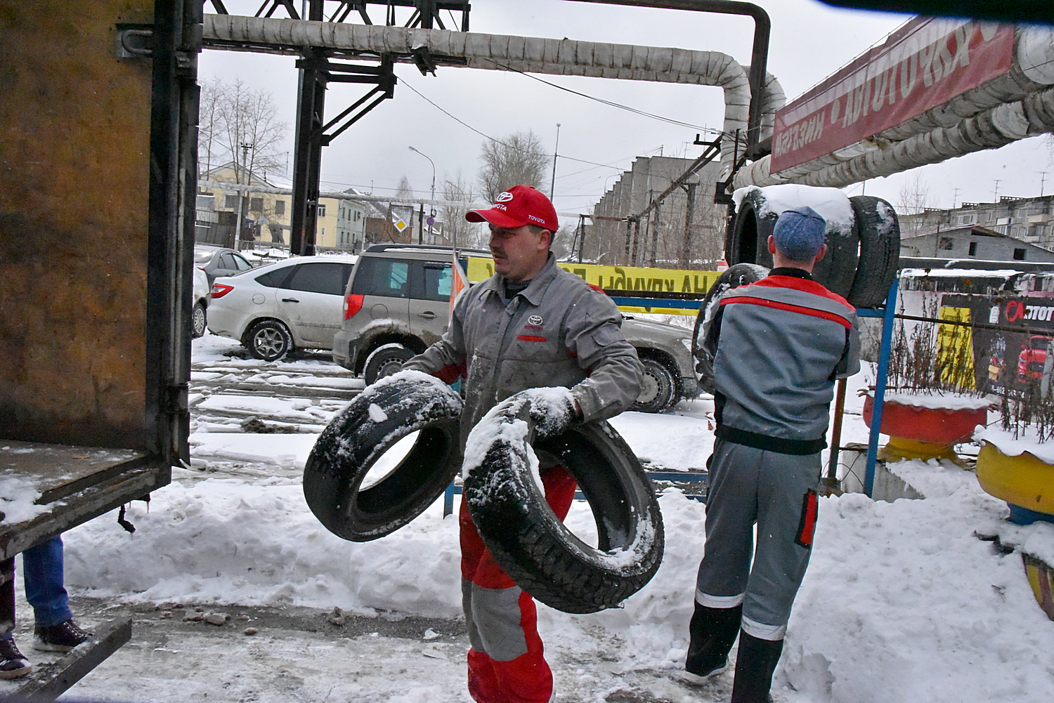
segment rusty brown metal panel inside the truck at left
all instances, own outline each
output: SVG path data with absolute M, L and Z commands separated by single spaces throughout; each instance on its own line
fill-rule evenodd
M 141 448 L 153 0 L 0 0 L 0 437 Z

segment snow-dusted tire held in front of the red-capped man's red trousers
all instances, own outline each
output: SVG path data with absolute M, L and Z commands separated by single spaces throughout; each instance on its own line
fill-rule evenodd
M 605 422 L 573 423 L 572 408 L 565 389 L 523 391 L 495 406 L 469 435 L 465 497 L 484 543 L 516 585 L 558 610 L 597 612 L 655 575 L 662 515 L 625 441 Z M 539 455 L 578 481 L 597 521 L 597 547 L 549 508 Z

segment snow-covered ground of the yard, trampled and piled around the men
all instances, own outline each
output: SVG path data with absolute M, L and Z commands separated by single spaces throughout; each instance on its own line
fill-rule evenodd
M 223 368 L 258 365 L 295 383 L 323 362 L 276 365 L 231 360 L 236 343 L 207 335 L 194 360 Z M 330 368 L 332 371 L 332 368 Z M 866 385 L 851 380 L 842 444 L 866 442 L 860 421 Z M 305 382 L 308 383 L 308 382 Z M 324 386 L 325 384 L 319 384 Z M 289 423 L 291 434 L 255 434 L 197 422 L 191 469 L 149 506 L 133 504 L 134 534 L 104 516 L 65 535 L 66 582 L 75 594 L 110 602 L 180 603 L 206 610 L 237 605 L 312 606 L 376 618 L 460 617 L 457 526 L 442 502 L 408 527 L 370 543 L 329 533 L 308 510 L 299 472 L 311 428 L 330 404 L 278 403 L 246 395 L 200 398 L 251 412 L 253 403 Z M 296 406 L 296 407 L 293 407 Z M 626 413 L 613 422 L 653 466 L 704 465 L 713 443 L 709 403 L 682 403 L 663 415 Z M 235 414 L 237 414 L 235 412 Z M 310 425 L 314 423 L 314 425 Z M 247 468 L 238 472 L 229 469 Z M 1004 504 L 973 473 L 952 465 L 901 467 L 925 500 L 874 502 L 861 494 L 822 499 L 812 565 L 792 614 L 774 694 L 790 703 L 1015 703 L 1054 700 L 1054 622 L 1036 604 L 1019 553 L 1008 544 L 1054 545 L 1054 525 L 1015 527 Z M 919 477 L 921 476 L 921 477 Z M 930 483 L 926 484 L 926 476 Z M 925 485 L 934 488 L 925 488 Z M 557 701 L 722 701 L 731 675 L 702 689 L 679 683 L 704 506 L 676 489 L 660 496 L 665 559 L 624 607 L 571 616 L 540 606 Z M 568 518 L 587 533 L 591 513 Z M 1054 552 L 1054 547 L 1050 548 Z M 66 695 L 105 701 L 468 701 L 464 637 L 353 638 L 215 628 L 156 647 L 133 642 Z M 382 629 L 380 627 L 377 628 Z M 180 653 L 182 652 L 182 653 Z M 182 659 L 181 659 L 182 658 Z M 284 671 L 280 673 L 278 670 Z M 207 694 L 207 699 L 203 694 Z

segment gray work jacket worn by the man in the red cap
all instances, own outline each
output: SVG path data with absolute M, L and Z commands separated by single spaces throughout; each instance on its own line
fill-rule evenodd
M 494 274 L 465 291 L 443 337 L 403 367 L 425 373 L 462 370 L 463 445 L 488 410 L 529 388 L 569 388 L 586 422 L 606 419 L 633 404 L 643 369 L 622 335 L 622 315 L 611 298 L 558 267 L 552 254 L 508 302 L 504 285 Z M 449 372 L 441 375 L 449 377 Z

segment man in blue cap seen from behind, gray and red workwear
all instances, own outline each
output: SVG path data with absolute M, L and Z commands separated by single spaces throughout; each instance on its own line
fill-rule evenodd
M 726 291 L 704 330 L 717 438 L 684 668 L 694 683 L 721 673 L 738 634 L 731 703 L 770 700 L 813 545 L 835 379 L 860 368 L 855 309 L 813 280 L 825 231 L 812 208 L 781 213 L 768 237 L 775 268 Z

